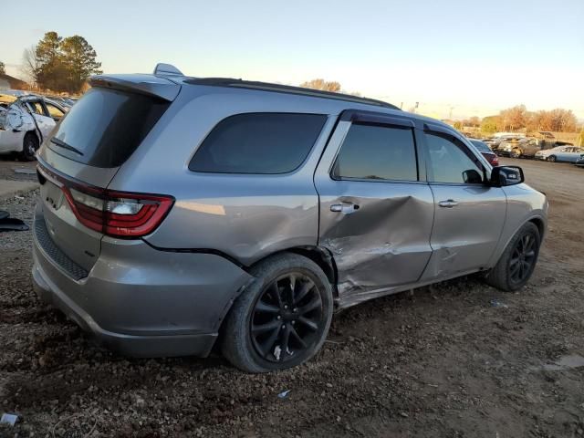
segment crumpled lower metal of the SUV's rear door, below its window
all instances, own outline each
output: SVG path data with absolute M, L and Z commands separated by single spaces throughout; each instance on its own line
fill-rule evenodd
M 415 282 L 432 254 L 434 207 L 428 186 L 338 183 L 357 184 L 349 190 L 368 193 L 367 197 L 321 195 L 319 245 L 331 252 L 337 265 L 340 302 Z M 331 212 L 330 205 L 339 202 L 358 204 L 359 209 L 352 214 Z

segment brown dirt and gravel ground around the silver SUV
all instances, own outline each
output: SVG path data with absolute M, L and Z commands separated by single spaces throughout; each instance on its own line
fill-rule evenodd
M 527 287 L 466 277 L 370 301 L 314 360 L 267 375 L 99 348 L 39 304 L 30 233 L 0 235 L 0 412 L 21 416 L 0 436 L 584 436 L 584 367 L 568 363 L 584 356 L 584 169 L 503 162 L 550 200 Z M 35 195 L 0 207 L 28 222 Z

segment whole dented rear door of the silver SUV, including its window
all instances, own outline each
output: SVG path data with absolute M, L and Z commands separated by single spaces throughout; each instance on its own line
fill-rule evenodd
M 345 111 L 318 165 L 318 243 L 338 267 L 341 302 L 414 283 L 430 259 L 433 193 L 415 131 L 405 117 Z

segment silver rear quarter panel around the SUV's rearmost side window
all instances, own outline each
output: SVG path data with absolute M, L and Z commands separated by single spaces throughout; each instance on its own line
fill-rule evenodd
M 209 87 L 209 93 L 183 92 L 162 123 L 110 183 L 110 188 L 174 196 L 161 226 L 145 240 L 156 247 L 212 249 L 248 266 L 279 250 L 318 243 L 318 193 L 314 169 L 342 108 L 339 102 L 279 93 Z M 319 100 L 318 100 L 319 101 Z M 307 160 L 295 172 L 252 175 L 192 172 L 188 164 L 214 126 L 245 112 L 297 112 L 328 115 Z

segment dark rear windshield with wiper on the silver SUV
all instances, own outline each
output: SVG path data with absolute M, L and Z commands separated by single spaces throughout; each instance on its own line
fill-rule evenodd
M 141 94 L 90 89 L 58 125 L 49 147 L 89 166 L 118 167 L 136 151 L 169 105 Z

